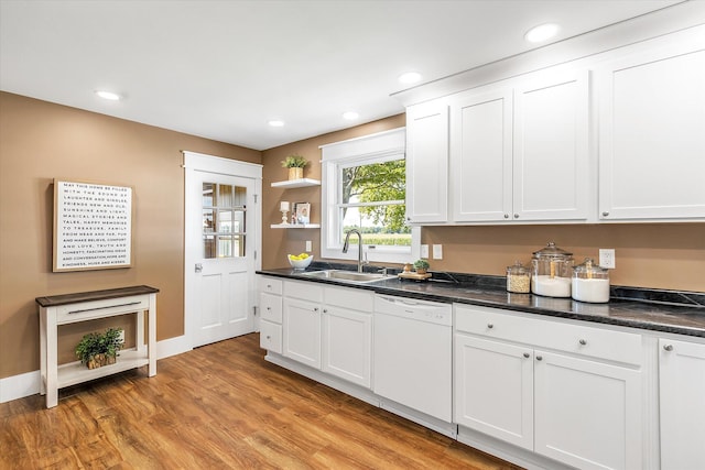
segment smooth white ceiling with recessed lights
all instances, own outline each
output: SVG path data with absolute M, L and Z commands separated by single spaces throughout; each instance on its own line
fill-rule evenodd
M 541 23 L 555 42 L 679 2 L 0 0 L 0 89 L 265 150 L 403 112 L 404 72 L 432 81 L 538 47 Z

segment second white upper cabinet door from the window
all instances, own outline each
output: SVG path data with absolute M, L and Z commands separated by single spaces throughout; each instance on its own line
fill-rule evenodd
M 512 210 L 512 96 L 475 91 L 451 103 L 453 220 L 507 220 Z

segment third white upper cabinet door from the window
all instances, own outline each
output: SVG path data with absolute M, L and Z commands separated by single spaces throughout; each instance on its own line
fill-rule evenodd
M 514 88 L 516 220 L 587 218 L 588 73 L 542 72 Z

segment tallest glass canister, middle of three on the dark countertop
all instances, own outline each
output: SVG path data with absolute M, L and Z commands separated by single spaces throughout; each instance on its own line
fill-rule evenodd
M 573 253 L 550 242 L 531 259 L 531 292 L 546 297 L 570 297 Z

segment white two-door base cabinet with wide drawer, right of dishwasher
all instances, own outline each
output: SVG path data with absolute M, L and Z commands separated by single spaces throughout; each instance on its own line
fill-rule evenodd
M 641 337 L 456 305 L 455 420 L 581 469 L 641 468 Z

